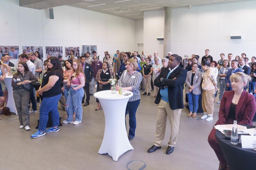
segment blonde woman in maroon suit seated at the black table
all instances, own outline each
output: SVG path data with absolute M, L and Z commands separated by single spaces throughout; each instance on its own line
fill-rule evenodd
M 232 91 L 224 92 L 220 102 L 219 120 L 215 125 L 233 124 L 234 120 L 237 124 L 252 125 L 252 118 L 256 111 L 255 97 L 244 91 L 244 86 L 250 80 L 251 78 L 243 72 L 230 76 Z M 215 138 L 215 132 L 216 129 L 213 128 L 208 142 L 220 161 L 219 169 L 227 169 L 228 165 Z

